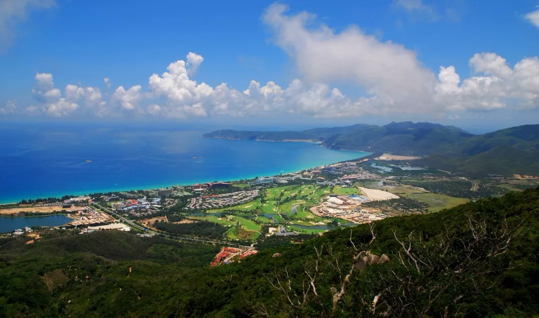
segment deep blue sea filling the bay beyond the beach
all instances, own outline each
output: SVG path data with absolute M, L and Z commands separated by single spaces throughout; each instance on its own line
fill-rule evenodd
M 0 124 L 0 203 L 254 178 L 368 154 L 312 143 L 200 138 L 219 127 Z

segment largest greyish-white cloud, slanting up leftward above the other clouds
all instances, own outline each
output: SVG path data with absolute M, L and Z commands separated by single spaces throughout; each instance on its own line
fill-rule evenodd
M 385 105 L 389 108 L 428 103 L 436 76 L 421 65 L 415 52 L 382 42 L 356 26 L 340 33 L 325 24 L 312 28 L 308 23 L 315 16 L 307 12 L 286 15 L 287 10 L 287 6 L 272 5 L 263 19 L 273 29 L 276 44 L 291 55 L 307 80 L 353 80 L 392 104 Z

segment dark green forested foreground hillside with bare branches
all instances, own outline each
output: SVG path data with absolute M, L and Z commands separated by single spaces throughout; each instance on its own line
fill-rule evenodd
M 374 227 L 337 229 L 292 246 L 275 242 L 269 244 L 275 248 L 241 263 L 213 268 L 206 265 L 216 247 L 123 232 L 31 245 L 7 238 L 0 241 L 0 312 L 534 316 L 539 314 L 538 222 L 539 188 L 528 189 L 440 213 L 387 218 Z M 378 264 L 383 254 L 389 262 Z

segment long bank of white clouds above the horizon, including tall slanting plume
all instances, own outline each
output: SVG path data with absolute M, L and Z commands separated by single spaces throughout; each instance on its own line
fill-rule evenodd
M 420 1 L 399 1 L 409 10 L 426 10 Z M 108 94 L 111 80 L 99 87 L 68 84 L 63 92 L 53 75 L 38 73 L 31 90 L 35 103 L 22 107 L 10 100 L 0 115 L 155 116 L 168 118 L 213 116 L 305 115 L 316 118 L 431 114 L 453 116 L 465 111 L 535 109 L 539 106 L 539 58 L 521 59 L 511 66 L 493 52 L 469 59 L 473 76 L 461 79 L 454 66 L 437 73 L 418 60 L 416 52 L 382 41 L 358 26 L 336 32 L 308 12 L 289 14 L 274 4 L 262 15 L 273 42 L 294 61 L 299 78 L 286 87 L 255 80 L 244 88 L 226 82 L 212 87 L 194 80 L 202 55 L 189 52 L 171 62 L 161 74 L 142 84 L 118 86 Z M 334 82 L 351 82 L 364 96 L 346 96 Z

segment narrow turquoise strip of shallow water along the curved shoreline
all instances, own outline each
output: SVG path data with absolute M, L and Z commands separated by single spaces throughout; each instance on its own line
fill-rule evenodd
M 207 137 L 202 137 L 202 138 L 207 138 Z M 215 138 L 215 139 L 228 139 L 228 138 Z M 246 139 L 230 139 L 230 140 L 246 140 Z M 252 140 L 252 141 L 263 141 L 263 140 Z M 367 157 L 367 156 L 369 156 L 371 154 L 370 152 L 359 151 L 359 150 L 344 150 L 344 149 L 330 149 L 330 150 L 348 151 L 348 152 L 362 152 L 362 153 L 364 153 L 363 156 L 356 157 L 355 159 L 360 159 L 360 158 L 363 158 L 363 157 Z M 353 159 L 350 159 L 350 160 L 353 160 Z M 220 181 L 234 182 L 234 181 L 239 181 L 239 180 L 254 179 L 254 178 L 257 178 L 257 177 L 260 177 L 260 176 L 298 173 L 298 172 L 306 170 L 306 169 L 314 169 L 314 168 L 317 168 L 317 167 L 323 167 L 323 166 L 327 166 L 327 165 L 331 165 L 331 164 L 335 164 L 335 163 L 336 162 L 326 162 L 326 163 L 317 164 L 317 165 L 306 164 L 306 165 L 302 165 L 300 167 L 295 167 L 295 168 L 291 168 L 291 169 L 287 169 L 287 170 L 279 170 L 280 169 L 279 167 L 275 167 L 273 171 L 269 171 L 269 172 L 266 172 L 266 173 L 263 173 L 263 174 L 256 173 L 256 174 L 250 174 L 250 175 L 239 175 L 239 176 L 234 176 L 234 178 L 229 178 L 228 180 L 223 179 L 223 180 L 220 180 Z M 28 199 L 37 199 L 39 197 L 62 197 L 64 195 L 81 196 L 81 195 L 92 194 L 92 193 L 123 192 L 123 191 L 130 191 L 130 190 L 150 190 L 150 189 L 169 188 L 172 185 L 190 186 L 190 185 L 195 185 L 196 183 L 206 183 L 206 182 L 213 182 L 213 181 L 215 181 L 215 179 L 213 179 L 213 180 L 200 180 L 200 179 L 197 179 L 197 180 L 183 180 L 181 182 L 175 182 L 175 183 L 161 183 L 159 185 L 121 186 L 121 187 L 114 187 L 114 188 L 86 189 L 86 190 L 78 190 L 78 191 L 71 191 L 71 192 L 64 192 L 64 193 L 47 193 L 47 192 L 43 192 L 39 196 L 32 196 L 32 197 L 26 196 L 26 197 L 21 197 L 20 199 L 10 198 L 10 199 L 5 199 L 5 201 L 2 201 L 2 199 L 0 199 L 0 204 L 2 204 L 2 205 L 4 205 L 4 204 L 17 204 L 22 199 L 26 199 L 26 200 L 28 200 Z

